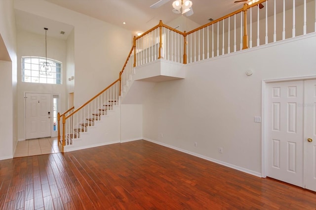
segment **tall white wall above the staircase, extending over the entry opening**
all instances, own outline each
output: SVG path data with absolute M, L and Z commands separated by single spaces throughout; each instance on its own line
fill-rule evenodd
M 131 31 L 44 0 L 15 0 L 16 9 L 74 26 L 75 107 L 118 79 L 131 48 Z

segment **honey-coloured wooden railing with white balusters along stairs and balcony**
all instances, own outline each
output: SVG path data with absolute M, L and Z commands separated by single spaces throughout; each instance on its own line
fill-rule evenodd
M 249 42 L 248 34 L 247 34 L 247 27 L 248 27 L 247 26 L 247 10 L 254 6 L 258 6 L 259 4 L 262 4 L 265 1 L 267 0 L 259 0 L 251 5 L 244 3 L 241 9 L 238 9 L 228 15 L 225 15 L 217 20 L 211 21 L 210 23 L 205 24 L 189 32 L 186 32 L 186 31 L 181 32 L 179 30 L 173 29 L 167 25 L 164 25 L 162 21 L 160 20 L 157 26 L 144 32 L 138 37 L 134 36 L 133 46 L 127 56 L 127 59 L 123 65 L 122 70 L 119 72 L 118 80 L 116 80 L 106 89 L 102 90 L 100 93 L 95 95 L 85 104 L 80 106 L 78 109 L 74 110 L 71 114 L 66 116 L 66 114 L 70 112 L 70 110 L 66 111 L 62 115 L 59 115 L 58 113 L 58 117 L 57 117 L 58 118 L 58 140 L 60 141 L 60 126 L 59 125 L 60 125 L 61 118 L 62 118 L 62 123 L 63 123 L 62 145 L 64 147 L 66 145 L 69 145 L 69 142 L 71 142 L 72 139 L 79 138 L 81 132 L 86 132 L 87 127 L 92 126 L 95 121 L 100 120 L 101 116 L 105 115 L 108 109 L 112 109 L 113 107 L 112 103 L 114 103 L 114 105 L 118 105 L 118 97 L 125 90 L 125 87 L 128 86 L 128 82 L 131 80 L 131 76 L 134 74 L 134 67 L 142 65 L 142 64 L 146 64 L 148 62 L 152 62 L 157 59 L 171 60 L 171 61 L 181 62 L 183 64 L 186 64 L 188 63 L 189 55 L 190 55 L 190 62 L 192 62 L 192 56 L 193 54 L 196 54 L 196 51 L 198 52 L 198 55 L 194 55 L 195 57 L 194 61 L 198 61 L 200 60 L 200 58 L 204 60 L 205 59 L 204 45 L 206 45 L 206 43 L 204 43 L 204 33 L 205 33 L 204 29 L 207 31 L 207 57 L 206 59 L 213 58 L 214 57 L 214 49 L 213 49 L 214 34 L 212 34 L 212 40 L 211 40 L 212 55 L 210 57 L 209 49 L 208 49 L 210 45 L 209 44 L 209 27 L 211 26 L 212 33 L 213 33 L 213 27 L 214 27 L 214 24 L 216 23 L 217 23 L 217 56 L 219 56 L 219 48 L 218 48 L 219 47 L 218 46 L 219 45 L 219 30 L 218 29 L 219 29 L 219 23 L 221 21 L 222 21 L 221 24 L 223 24 L 222 26 L 223 31 L 221 34 L 223 36 L 222 55 L 224 55 L 224 33 L 225 32 L 228 33 L 228 37 L 229 37 L 228 38 L 228 53 L 230 52 L 230 42 L 229 42 L 230 27 L 228 27 L 229 29 L 228 31 L 224 31 L 225 29 L 224 20 L 228 19 L 228 25 L 230 26 L 231 17 L 234 17 L 232 19 L 234 19 L 235 21 L 234 52 L 236 52 L 236 15 L 237 14 L 240 14 L 240 50 L 247 49 L 248 42 Z M 306 2 L 304 2 L 304 7 L 306 7 Z M 259 19 L 259 7 L 257 11 L 258 11 L 258 19 Z M 283 9 L 283 13 L 284 12 L 285 11 Z M 242 20 L 242 13 L 243 13 L 243 20 Z M 250 14 L 251 14 L 251 10 L 250 10 Z M 276 16 L 276 12 L 274 15 Z M 284 14 L 283 14 L 283 17 L 284 17 Z M 267 11 L 266 11 L 266 19 L 267 18 L 268 17 L 267 17 Z M 306 19 L 306 12 L 304 12 L 304 18 Z M 250 29 L 251 29 L 251 24 L 252 23 L 251 23 L 251 17 L 250 17 Z M 316 22 L 315 22 L 315 25 L 316 25 Z M 259 31 L 259 24 L 258 24 L 258 31 Z M 316 31 L 316 27 L 315 27 L 315 31 Z M 198 33 L 198 40 L 196 40 L 197 33 Z M 200 33 L 202 33 L 202 36 L 201 36 L 202 41 L 203 41 L 202 43 L 200 43 Z M 282 40 L 285 39 L 284 33 L 285 32 L 283 31 Z M 306 27 L 304 28 L 304 34 L 306 34 Z M 194 36 L 194 40 L 193 40 L 194 42 L 192 41 L 193 36 Z M 274 34 L 274 36 L 276 35 Z M 258 39 L 259 39 L 259 35 L 258 35 Z M 274 38 L 274 42 L 275 41 L 276 39 Z M 189 42 L 190 42 L 190 46 L 189 46 Z M 196 43 L 198 43 L 198 46 L 196 46 Z M 267 44 L 267 37 L 266 37 L 266 44 Z M 194 49 L 192 49 L 193 45 L 194 45 Z M 257 46 L 259 46 L 259 42 Z M 189 51 L 189 47 L 190 47 L 190 51 Z M 196 47 L 198 48 L 198 50 L 196 50 Z M 202 47 L 202 52 L 203 52 L 202 56 L 199 55 L 199 52 L 201 51 L 200 47 Z M 251 34 L 250 34 L 250 47 L 251 47 Z M 169 51 L 171 51 L 171 53 Z M 198 56 L 198 60 L 196 60 L 196 56 Z M 80 113 L 79 116 L 78 116 L 78 113 Z M 87 122 L 85 122 L 86 120 Z

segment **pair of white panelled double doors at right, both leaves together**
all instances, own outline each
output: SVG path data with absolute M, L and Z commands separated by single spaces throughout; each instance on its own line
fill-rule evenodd
M 316 80 L 266 90 L 267 176 L 316 191 Z

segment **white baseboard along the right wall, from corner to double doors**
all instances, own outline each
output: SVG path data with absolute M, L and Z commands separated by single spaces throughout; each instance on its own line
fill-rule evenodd
M 239 167 L 239 166 L 230 164 L 230 163 L 226 163 L 226 162 L 223 162 L 223 161 L 220 161 L 220 160 L 216 160 L 216 159 L 213 159 L 213 158 L 210 158 L 210 157 L 201 155 L 201 154 L 197 154 L 197 153 L 192 152 L 192 151 L 183 150 L 183 149 L 181 149 L 181 148 L 177 148 L 177 147 L 174 147 L 174 146 L 171 146 L 171 145 L 167 145 L 167 144 L 164 144 L 164 143 L 161 143 L 161 142 L 157 142 L 157 141 L 152 140 L 152 139 L 148 139 L 148 138 L 143 138 L 143 139 L 146 140 L 146 141 L 149 141 L 149 142 L 152 142 L 152 143 L 155 143 L 155 144 L 158 144 L 158 145 L 167 147 L 167 148 L 171 148 L 171 149 L 173 149 L 173 150 L 178 150 L 178 151 L 181 151 L 181 152 L 184 152 L 184 153 L 187 153 L 187 154 L 191 154 L 191 155 L 193 155 L 193 156 L 202 158 L 202 159 L 204 159 L 204 160 L 208 160 L 208 161 L 211 161 L 211 162 L 214 162 L 214 163 L 217 163 L 217 164 L 220 164 L 220 165 L 223 165 L 223 166 L 232 168 L 232 169 L 236 169 L 236 170 L 238 170 L 238 171 L 241 171 L 241 172 L 244 172 L 244 173 L 247 173 L 247 174 L 251 174 L 251 175 L 253 175 L 253 176 L 256 176 L 256 177 L 260 177 L 260 178 L 261 178 L 261 173 L 258 173 L 258 172 L 255 172 L 255 171 L 251 171 L 251 170 L 249 170 L 249 169 L 245 169 L 245 168 L 242 168 L 242 167 Z

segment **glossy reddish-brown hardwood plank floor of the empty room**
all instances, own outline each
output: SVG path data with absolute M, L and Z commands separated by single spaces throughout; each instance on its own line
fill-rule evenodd
M 0 161 L 0 210 L 315 210 L 316 193 L 147 141 Z

